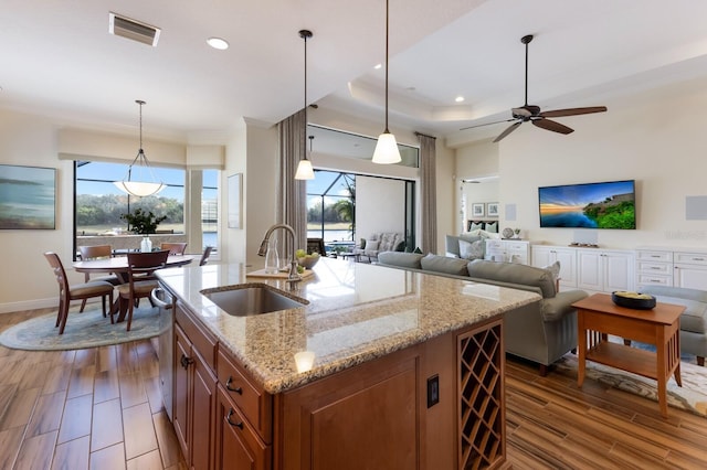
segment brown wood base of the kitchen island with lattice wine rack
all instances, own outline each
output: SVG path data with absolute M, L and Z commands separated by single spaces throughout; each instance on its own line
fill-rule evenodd
M 175 428 L 191 468 L 437 470 L 505 462 L 498 318 L 270 394 L 196 319 L 180 320 L 184 309 L 177 311 Z M 203 348 L 213 356 L 204 357 Z

